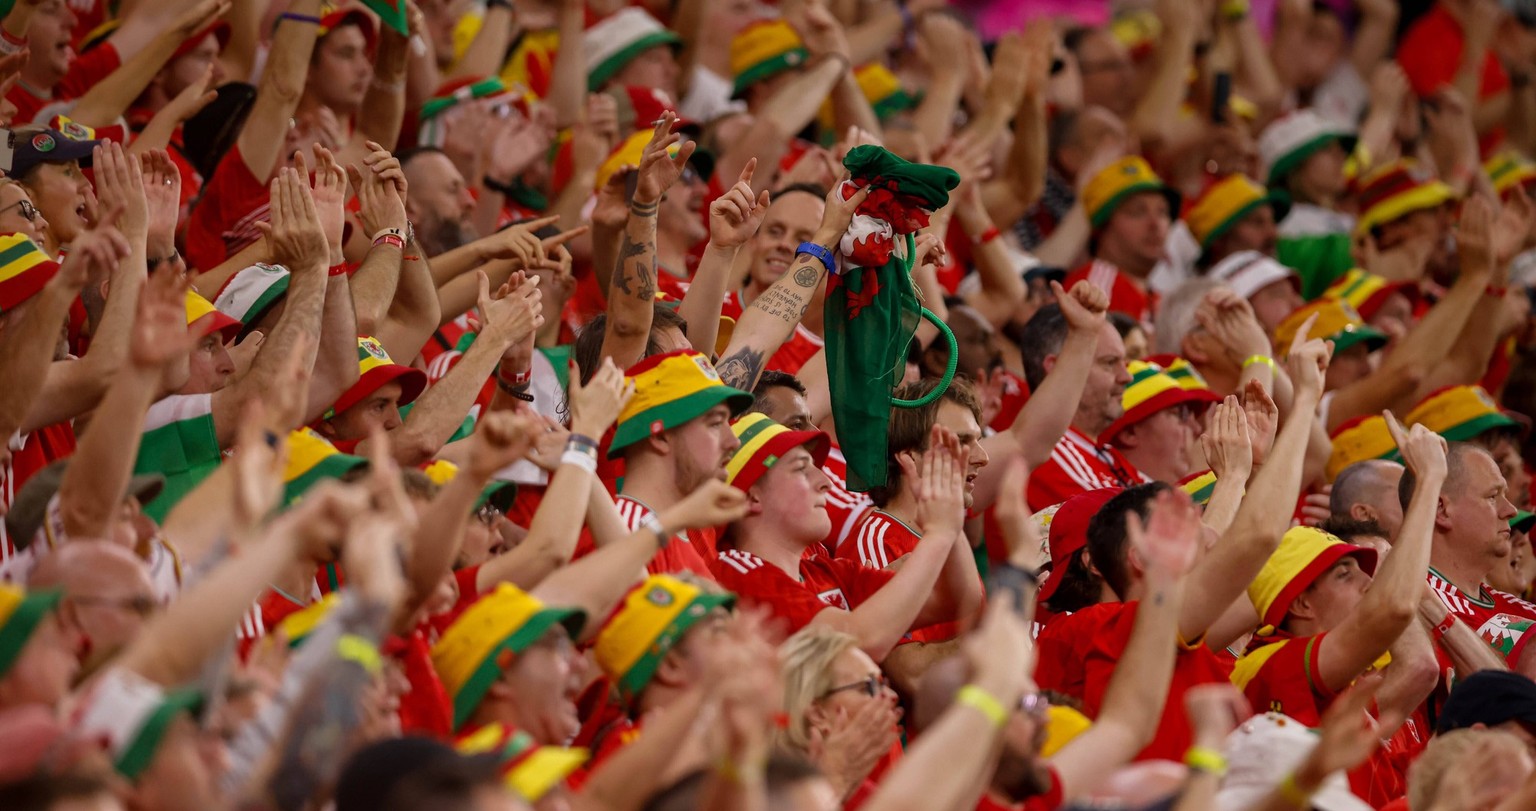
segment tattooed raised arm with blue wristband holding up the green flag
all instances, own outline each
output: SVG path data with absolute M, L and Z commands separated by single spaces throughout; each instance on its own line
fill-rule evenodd
M 828 250 L 837 250 L 837 244 L 852 221 L 854 210 L 869 197 L 869 189 L 859 189 L 851 198 L 843 200 L 839 186 L 826 195 L 826 210 L 822 214 L 822 224 L 817 226 L 811 243 Z M 822 295 L 822 278 L 828 267 L 811 253 L 799 253 L 790 270 L 779 276 L 773 287 L 742 313 L 731 333 L 731 344 L 720 353 L 716 369 L 727 386 L 734 386 L 743 392 L 751 392 L 762 375 L 768 358 L 794 333 L 794 326 L 805 316 L 811 300 Z M 611 333 L 613 326 L 608 326 Z

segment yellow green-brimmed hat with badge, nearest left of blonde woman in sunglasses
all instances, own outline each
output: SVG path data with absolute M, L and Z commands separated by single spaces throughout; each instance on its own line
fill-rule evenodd
M 736 605 L 736 594 L 710 593 L 670 574 L 653 574 L 630 590 L 598 631 L 593 659 L 633 697 L 651 682 L 656 667 L 688 628 L 716 608 Z

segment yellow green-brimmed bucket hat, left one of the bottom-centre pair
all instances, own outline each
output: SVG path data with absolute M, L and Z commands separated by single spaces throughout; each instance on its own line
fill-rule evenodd
M 432 665 L 453 705 L 453 728 L 468 720 L 516 654 L 554 627 L 564 627 L 576 639 L 585 622 L 587 611 L 545 607 L 508 584 L 470 604 L 432 647 Z

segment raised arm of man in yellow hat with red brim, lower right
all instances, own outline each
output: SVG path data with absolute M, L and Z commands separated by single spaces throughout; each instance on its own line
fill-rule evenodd
M 1424 425 L 1404 430 L 1392 412 L 1382 416 L 1413 472 L 1413 496 L 1402 511 L 1402 530 L 1392 542 L 1392 554 L 1376 570 L 1364 599 L 1322 637 L 1318 674 L 1329 691 L 1349 687 L 1402 636 L 1413 622 L 1430 565 L 1430 536 L 1445 482 L 1445 439 Z

